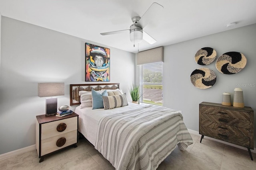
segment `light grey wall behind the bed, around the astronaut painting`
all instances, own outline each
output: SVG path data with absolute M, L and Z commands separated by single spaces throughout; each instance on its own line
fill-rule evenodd
M 45 113 L 38 82 L 65 83 L 58 107 L 69 105 L 69 84 L 86 83 L 85 43 L 110 48 L 110 83 L 128 93 L 134 81 L 133 53 L 6 17 L 1 35 L 0 154 L 35 144 L 36 115 Z

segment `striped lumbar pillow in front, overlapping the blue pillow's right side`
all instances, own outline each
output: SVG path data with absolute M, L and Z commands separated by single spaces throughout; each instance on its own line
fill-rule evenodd
M 102 96 L 102 99 L 105 110 L 128 105 L 126 94 L 115 96 Z

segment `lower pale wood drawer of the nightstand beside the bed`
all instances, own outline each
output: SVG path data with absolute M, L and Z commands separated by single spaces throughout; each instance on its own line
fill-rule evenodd
M 62 143 L 61 147 L 58 147 L 57 141 L 58 139 L 65 139 L 66 142 Z M 64 133 L 58 136 L 54 136 L 48 139 L 44 139 L 41 141 L 41 156 L 44 156 L 45 154 L 54 152 L 56 150 L 62 149 L 64 147 L 67 147 L 69 145 L 72 145 L 77 142 L 77 130 Z M 64 145 L 63 145 L 64 144 Z

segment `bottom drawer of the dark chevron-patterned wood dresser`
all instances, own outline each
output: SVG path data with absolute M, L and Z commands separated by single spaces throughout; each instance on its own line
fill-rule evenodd
M 211 129 L 207 127 L 201 127 L 201 133 L 208 137 L 213 137 L 222 141 L 230 142 L 235 145 L 240 145 L 242 147 L 250 147 L 249 136 L 242 136 L 240 134 L 229 133 L 229 131 L 223 131 L 219 129 Z M 252 144 L 251 144 L 252 145 Z

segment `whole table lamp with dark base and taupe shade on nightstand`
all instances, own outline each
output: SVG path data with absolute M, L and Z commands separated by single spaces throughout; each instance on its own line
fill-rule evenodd
M 38 96 L 51 97 L 63 96 L 64 83 L 38 83 Z M 57 98 L 46 98 L 46 116 L 55 115 L 57 112 Z

